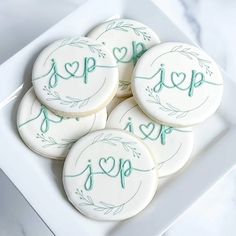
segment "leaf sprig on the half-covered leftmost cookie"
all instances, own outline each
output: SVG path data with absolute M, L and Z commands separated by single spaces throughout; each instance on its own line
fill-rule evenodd
M 57 147 L 57 148 L 65 148 L 69 149 L 71 146 L 76 142 L 76 139 L 62 139 L 61 142 L 56 141 L 53 137 L 46 136 L 45 134 L 39 134 L 37 133 L 36 135 L 37 139 L 40 139 L 41 142 L 44 143 L 42 146 L 43 148 L 48 148 L 48 147 Z

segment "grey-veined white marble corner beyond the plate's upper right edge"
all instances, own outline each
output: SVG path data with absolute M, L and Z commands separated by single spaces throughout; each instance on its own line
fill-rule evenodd
M 175 24 L 200 44 L 227 72 L 235 74 L 236 1 L 156 0 Z

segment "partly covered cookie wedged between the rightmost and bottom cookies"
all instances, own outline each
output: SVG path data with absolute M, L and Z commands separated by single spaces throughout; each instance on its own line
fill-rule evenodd
M 193 149 L 191 128 L 160 125 L 146 116 L 134 98 L 120 103 L 109 115 L 107 128 L 129 131 L 142 139 L 157 164 L 159 177 L 180 170 L 190 158 Z

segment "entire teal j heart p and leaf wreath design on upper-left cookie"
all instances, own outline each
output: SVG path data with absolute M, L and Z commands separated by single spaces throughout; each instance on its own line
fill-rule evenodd
M 97 57 L 105 58 L 106 54 L 103 52 L 102 44 L 92 44 L 89 40 L 81 39 L 81 38 L 68 38 L 63 40 L 59 46 L 53 50 L 48 57 L 46 58 L 45 63 L 48 61 L 48 59 L 55 53 L 57 50 L 59 50 L 62 47 L 77 47 L 77 48 L 84 48 L 87 47 L 89 50 L 95 54 Z M 45 91 L 45 94 L 47 95 L 46 100 L 47 101 L 57 101 L 59 104 L 69 106 L 69 107 L 78 107 L 82 108 L 86 106 L 92 97 L 97 95 L 105 86 L 107 78 L 105 77 L 103 81 L 101 82 L 101 86 L 97 88 L 97 90 L 90 96 L 85 98 L 79 98 L 79 97 L 72 97 L 72 96 L 61 96 L 55 88 L 58 86 L 59 82 L 61 80 L 70 80 L 70 79 L 80 79 L 82 83 L 84 83 L 84 88 L 88 89 L 89 87 L 86 87 L 87 84 L 89 84 L 90 80 L 96 79 L 96 76 L 93 75 L 94 78 L 90 78 L 91 74 L 97 69 L 114 69 L 117 68 L 117 64 L 115 65 L 102 65 L 97 64 L 96 61 L 97 58 L 95 57 L 85 57 L 83 58 L 83 62 L 79 61 L 71 61 L 66 62 L 62 69 L 59 70 L 58 63 L 55 58 L 51 58 L 51 64 L 49 70 L 38 77 L 33 78 L 33 82 L 36 82 L 40 79 L 48 79 L 48 85 L 45 85 L 43 87 L 43 91 Z M 83 64 L 82 64 L 83 63 Z M 99 84 L 100 85 L 100 84 Z

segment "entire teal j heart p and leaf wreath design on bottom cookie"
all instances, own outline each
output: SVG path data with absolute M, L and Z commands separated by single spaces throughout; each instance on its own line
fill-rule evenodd
M 90 144 L 88 144 L 83 150 L 78 155 L 78 158 L 75 161 L 75 166 L 77 165 L 77 162 L 79 158 L 83 155 L 83 153 L 91 147 L 91 145 L 98 144 L 98 143 L 105 143 L 107 145 L 111 146 L 117 146 L 121 145 L 122 148 L 126 152 L 130 152 L 133 158 L 140 158 L 140 153 L 137 152 L 137 148 L 135 147 L 137 145 L 136 142 L 128 142 L 124 138 L 115 136 L 112 133 L 110 134 L 105 134 L 101 133 L 97 136 L 94 137 L 94 139 L 91 141 Z M 65 178 L 76 178 L 80 177 L 81 175 L 87 174 L 87 178 L 84 183 L 84 190 L 81 188 L 77 188 L 75 191 L 75 194 L 77 194 L 81 200 L 79 203 L 80 206 L 83 207 L 90 207 L 94 211 L 99 211 L 103 213 L 104 215 L 107 214 L 119 214 L 122 212 L 124 207 L 132 201 L 135 196 L 138 194 L 142 182 L 140 181 L 137 190 L 128 198 L 127 200 L 123 201 L 122 203 L 119 204 L 114 204 L 110 202 L 104 202 L 104 201 L 98 201 L 95 202 L 90 195 L 87 194 L 87 191 L 91 191 L 94 186 L 94 181 L 95 181 L 95 176 L 97 175 L 105 175 L 106 177 L 109 178 L 119 178 L 120 179 L 120 184 L 121 188 L 125 189 L 126 187 L 126 182 L 125 179 L 128 178 L 133 172 L 149 172 L 155 170 L 155 166 L 151 169 L 139 169 L 135 168 L 132 165 L 132 159 L 123 159 L 123 158 L 115 158 L 113 156 L 107 156 L 107 157 L 101 157 L 98 160 L 96 160 L 97 164 L 96 170 L 93 170 L 92 162 L 94 162 L 93 158 L 87 160 L 87 165 L 82 171 L 80 171 L 77 174 L 73 175 L 65 175 Z

